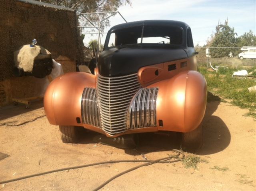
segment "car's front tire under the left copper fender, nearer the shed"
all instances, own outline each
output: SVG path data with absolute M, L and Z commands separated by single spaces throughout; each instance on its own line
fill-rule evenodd
M 78 142 L 78 127 L 76 126 L 59 126 L 61 140 L 63 143 Z

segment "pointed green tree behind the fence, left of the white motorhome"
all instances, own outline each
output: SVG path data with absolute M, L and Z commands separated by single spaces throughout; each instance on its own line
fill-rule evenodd
M 228 21 L 225 21 L 225 24 L 218 24 L 216 26 L 216 32 L 214 34 L 211 46 L 216 47 L 236 47 L 236 37 L 237 34 L 234 32 L 234 28 L 228 26 Z M 224 56 L 228 56 L 232 52 L 234 54 L 234 50 L 232 48 L 212 48 L 211 56 L 213 58 L 221 58 Z

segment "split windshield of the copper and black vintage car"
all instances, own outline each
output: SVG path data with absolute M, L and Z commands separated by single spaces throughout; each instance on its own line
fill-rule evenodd
M 182 42 L 183 31 L 178 26 L 140 25 L 114 30 L 110 34 L 108 47 L 141 44 L 173 46 Z

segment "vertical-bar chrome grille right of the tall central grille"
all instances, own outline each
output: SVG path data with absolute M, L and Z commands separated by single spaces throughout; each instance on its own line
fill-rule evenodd
M 159 88 L 140 89 L 129 107 L 127 121 L 128 128 L 155 127 L 156 124 L 156 98 Z

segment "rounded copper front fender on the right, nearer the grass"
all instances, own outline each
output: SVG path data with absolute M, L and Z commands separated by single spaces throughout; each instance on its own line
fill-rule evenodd
M 204 117 L 207 98 L 207 84 L 202 74 L 181 72 L 149 87 L 159 87 L 156 100 L 158 130 L 188 132 L 198 127 Z

